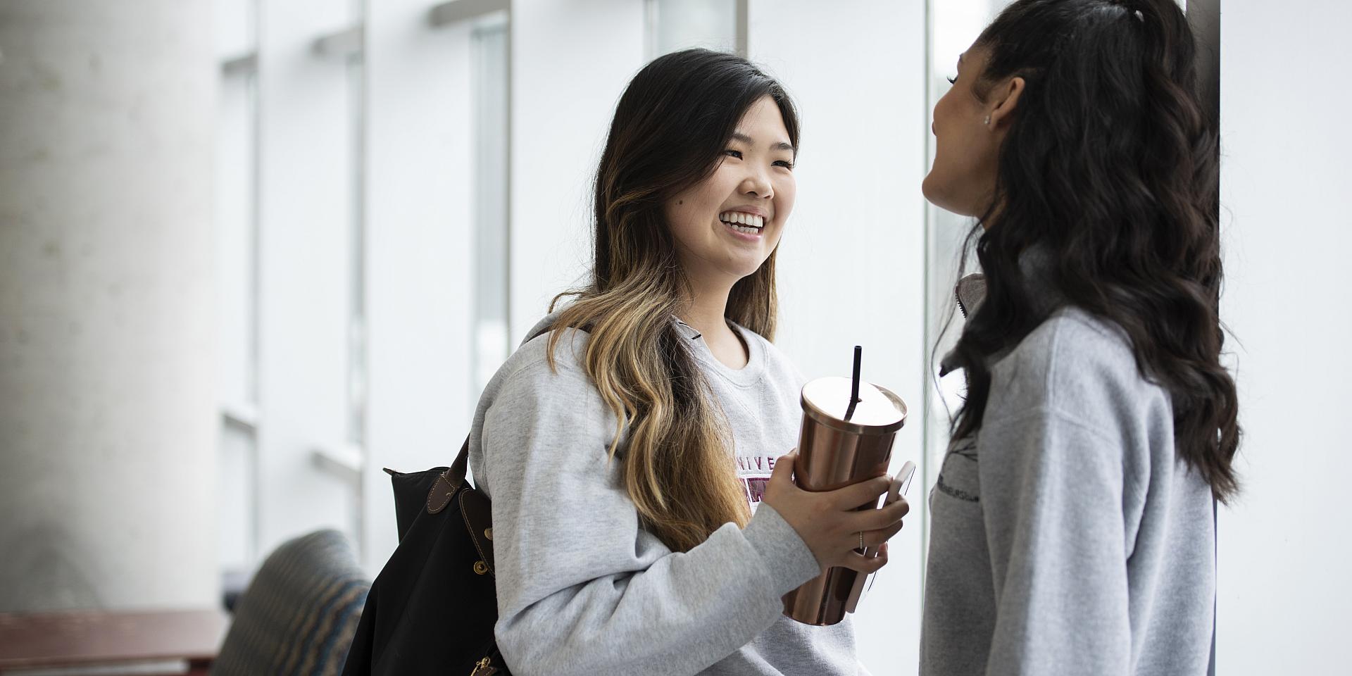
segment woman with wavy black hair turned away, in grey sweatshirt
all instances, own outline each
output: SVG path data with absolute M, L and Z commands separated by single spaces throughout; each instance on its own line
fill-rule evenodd
M 930 493 L 922 675 L 1201 675 L 1220 364 L 1217 137 L 1172 0 L 1019 0 L 934 107 L 925 195 L 977 219 L 984 297 Z

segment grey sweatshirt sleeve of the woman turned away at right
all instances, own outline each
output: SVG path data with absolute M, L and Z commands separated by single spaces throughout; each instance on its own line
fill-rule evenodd
M 1038 407 L 983 425 L 987 676 L 1130 673 L 1121 442 Z

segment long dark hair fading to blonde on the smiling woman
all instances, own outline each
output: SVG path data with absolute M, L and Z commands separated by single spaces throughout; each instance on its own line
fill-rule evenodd
M 798 115 L 783 87 L 745 58 L 692 49 L 657 58 L 619 99 L 596 170 L 592 281 L 557 326 L 591 333 L 584 365 L 623 426 L 625 484 L 653 534 L 688 550 L 727 522 L 750 518 L 730 461 L 726 420 L 672 315 L 691 300 L 665 204 L 718 168 L 742 115 L 769 96 L 790 143 Z M 560 297 L 554 299 L 557 304 Z M 775 335 L 775 254 L 740 280 L 727 318 Z M 550 361 L 560 333 L 550 339 Z

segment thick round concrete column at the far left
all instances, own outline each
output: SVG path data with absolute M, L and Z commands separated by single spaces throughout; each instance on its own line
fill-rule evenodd
M 0 611 L 215 602 L 211 46 L 0 3 Z

